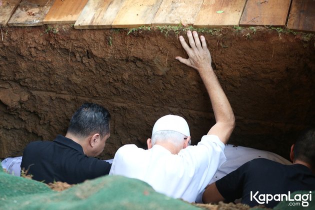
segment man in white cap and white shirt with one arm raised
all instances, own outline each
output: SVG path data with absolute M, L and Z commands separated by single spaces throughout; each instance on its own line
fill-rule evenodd
M 147 139 L 147 150 L 134 144 L 117 150 L 109 175 L 137 178 L 160 193 L 193 202 L 225 161 L 224 144 L 235 126 L 235 119 L 211 67 L 204 36 L 199 39 L 195 31 L 187 31 L 187 37 L 190 47 L 182 36 L 179 41 L 189 57 L 177 56 L 176 59 L 199 72 L 216 123 L 197 145 L 190 146 L 186 120 L 177 115 L 165 115 L 155 122 L 152 136 Z

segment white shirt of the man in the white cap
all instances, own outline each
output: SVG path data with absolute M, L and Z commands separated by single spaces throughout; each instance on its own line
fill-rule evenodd
M 216 135 L 204 135 L 178 154 L 157 144 L 150 149 L 127 144 L 117 150 L 109 175 L 137 178 L 157 192 L 194 202 L 225 160 L 224 144 Z

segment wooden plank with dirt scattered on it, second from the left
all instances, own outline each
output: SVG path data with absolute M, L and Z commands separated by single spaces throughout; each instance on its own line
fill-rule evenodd
M 9 26 L 43 25 L 43 18 L 47 14 L 54 0 L 22 0 L 8 21 Z

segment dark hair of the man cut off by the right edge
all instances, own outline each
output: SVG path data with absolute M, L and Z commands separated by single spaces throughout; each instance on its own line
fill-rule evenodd
M 294 146 L 294 159 L 310 164 L 315 168 L 315 129 L 307 129 L 297 138 Z

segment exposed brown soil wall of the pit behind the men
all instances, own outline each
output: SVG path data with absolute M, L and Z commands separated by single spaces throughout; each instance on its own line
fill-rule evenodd
M 57 25 L 54 34 L 45 27 L 2 28 L 0 158 L 21 155 L 30 141 L 65 134 L 85 101 L 112 115 L 100 158 L 112 158 L 126 143 L 145 148 L 154 121 L 164 114 L 187 119 L 192 144 L 213 125 L 198 73 L 174 59 L 186 56 L 174 32 L 127 35 Z M 315 125 L 314 38 L 267 29 L 204 35 L 236 117 L 230 143 L 288 157 L 297 132 Z

